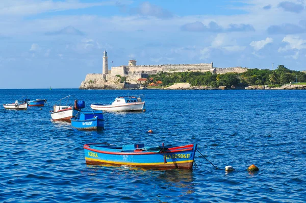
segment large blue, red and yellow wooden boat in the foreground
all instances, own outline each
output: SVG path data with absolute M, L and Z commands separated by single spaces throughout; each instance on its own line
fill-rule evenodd
M 144 144 L 115 145 L 109 143 L 85 144 L 86 164 L 113 164 L 151 169 L 192 170 L 197 144 L 184 146 L 153 146 Z

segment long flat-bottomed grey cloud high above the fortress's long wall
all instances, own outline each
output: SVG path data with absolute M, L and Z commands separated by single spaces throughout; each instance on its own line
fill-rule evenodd
M 250 24 L 230 24 L 228 28 L 222 28 L 214 21 L 211 21 L 208 26 L 205 26 L 202 22 L 195 21 L 184 24 L 181 30 L 190 32 L 247 32 L 255 29 Z

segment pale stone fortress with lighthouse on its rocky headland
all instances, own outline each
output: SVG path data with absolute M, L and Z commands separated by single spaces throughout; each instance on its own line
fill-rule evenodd
M 111 67 L 108 69 L 108 56 L 104 51 L 102 73 L 90 73 L 81 83 L 80 89 L 123 89 L 140 88 L 141 84 L 151 74 L 158 72 L 211 71 L 212 73 L 244 72 L 246 68 L 214 68 L 212 63 L 199 64 L 165 64 L 165 65 L 136 65 L 136 60 L 130 60 L 127 66 Z M 120 79 L 125 77 L 125 83 Z

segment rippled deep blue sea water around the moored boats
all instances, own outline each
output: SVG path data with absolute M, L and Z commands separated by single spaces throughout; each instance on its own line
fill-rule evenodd
M 146 112 L 106 112 L 104 131 L 78 131 L 49 114 L 70 94 L 86 110 L 143 94 Z M 306 201 L 306 91 L 0 89 L 0 103 L 24 95 L 47 105 L 0 109 L 0 202 Z M 219 169 L 199 153 L 192 171 L 90 166 L 91 142 L 197 143 Z

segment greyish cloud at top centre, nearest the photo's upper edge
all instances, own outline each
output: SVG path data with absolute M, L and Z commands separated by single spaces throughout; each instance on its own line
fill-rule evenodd
M 173 17 L 173 14 L 166 9 L 159 6 L 144 2 L 139 7 L 130 10 L 131 14 L 138 14 L 142 16 L 153 16 L 161 19 L 167 19 Z

